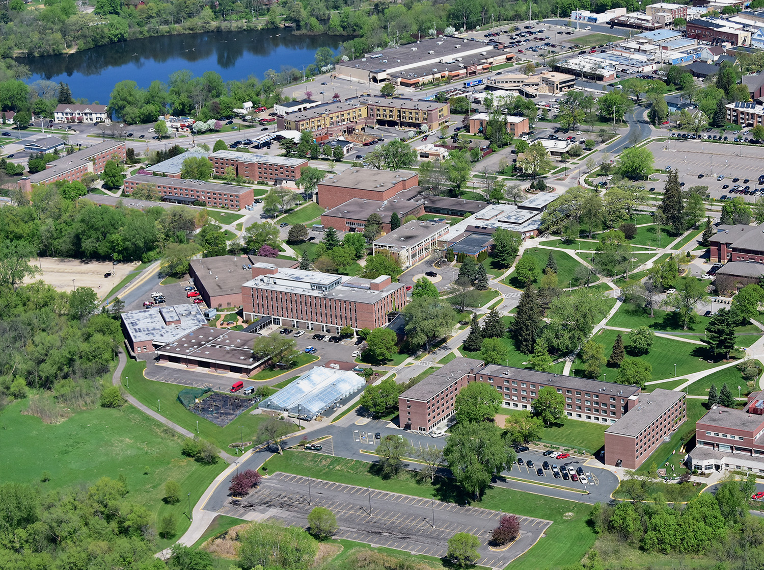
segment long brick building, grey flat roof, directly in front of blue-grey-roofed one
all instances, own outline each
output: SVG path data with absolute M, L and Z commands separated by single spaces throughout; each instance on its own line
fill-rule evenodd
M 196 201 L 205 202 L 208 206 L 241 210 L 251 206 L 254 193 L 251 187 L 185 180 L 184 178 L 166 178 L 149 174 L 135 174 L 125 180 L 125 192 L 132 194 L 141 184 L 149 184 L 157 188 L 167 202 L 178 204 L 193 204 Z

